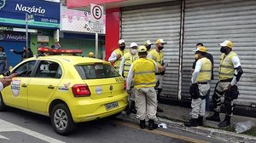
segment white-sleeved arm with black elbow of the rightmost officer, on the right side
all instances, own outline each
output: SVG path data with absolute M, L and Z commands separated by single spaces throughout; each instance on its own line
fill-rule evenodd
M 235 68 L 235 74 L 230 84 L 233 86 L 240 80 L 243 71 L 241 69 L 241 62 L 238 56 L 234 56 L 232 58 L 232 63 Z

